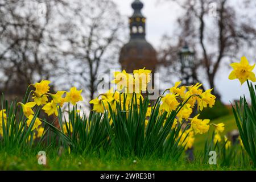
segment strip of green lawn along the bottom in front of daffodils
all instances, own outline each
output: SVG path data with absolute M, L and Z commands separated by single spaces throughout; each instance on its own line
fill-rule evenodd
M 189 163 L 186 160 L 172 162 L 165 158 L 116 158 L 112 153 L 101 156 L 96 155 L 71 155 L 58 156 L 48 154 L 48 164 L 38 164 L 36 151 L 7 154 L 0 152 L 0 170 L 251 170 L 252 168 L 220 167 L 216 165 L 200 164 L 199 162 Z M 136 160 L 136 163 L 134 163 Z

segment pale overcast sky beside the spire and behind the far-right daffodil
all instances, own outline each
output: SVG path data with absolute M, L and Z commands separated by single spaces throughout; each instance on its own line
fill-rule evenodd
M 142 1 L 144 3 L 142 13 L 147 18 L 146 38 L 156 49 L 161 44 L 160 40 L 163 34 L 174 30 L 176 18 L 181 12 L 179 6 L 174 2 L 159 4 L 157 3 L 158 1 L 159 0 Z M 128 18 L 133 14 L 133 9 L 131 9 L 133 0 L 114 0 L 114 2 L 117 3 L 118 9 L 123 16 L 127 16 Z M 249 61 L 253 63 L 253 61 Z M 230 69 L 222 67 L 216 76 L 216 86 L 225 104 L 229 104 L 229 101 L 237 100 L 243 93 L 246 93 L 247 97 L 249 96 L 246 84 L 240 86 L 238 80 L 228 80 L 230 72 Z

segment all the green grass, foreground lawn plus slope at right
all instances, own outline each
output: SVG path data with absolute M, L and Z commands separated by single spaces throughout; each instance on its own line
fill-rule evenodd
M 225 123 L 225 133 L 236 129 L 233 115 L 228 115 L 212 121 L 213 123 Z M 196 158 L 199 151 L 203 150 L 207 135 L 198 135 L 195 142 Z M 40 150 L 47 151 L 47 165 L 38 164 L 37 154 Z M 68 154 L 57 155 L 57 148 L 47 150 L 44 147 L 36 147 L 19 151 L 6 151 L 0 149 L 0 170 L 251 170 L 250 165 L 240 167 L 231 165 L 223 167 L 220 165 L 202 164 L 199 161 L 188 162 L 185 156 L 181 156 L 178 162 L 166 158 L 166 156 L 144 156 L 118 158 L 114 152 L 100 152 L 100 154 Z M 134 163 L 136 160 L 136 163 Z

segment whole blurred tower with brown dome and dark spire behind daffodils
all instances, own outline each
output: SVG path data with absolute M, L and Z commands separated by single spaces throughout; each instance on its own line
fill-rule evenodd
M 131 7 L 134 9 L 134 13 L 129 18 L 130 41 L 122 47 L 119 63 L 127 73 L 133 73 L 134 69 L 142 69 L 144 67 L 154 73 L 158 60 L 154 47 L 145 38 L 146 18 L 141 13 L 143 3 L 135 0 Z

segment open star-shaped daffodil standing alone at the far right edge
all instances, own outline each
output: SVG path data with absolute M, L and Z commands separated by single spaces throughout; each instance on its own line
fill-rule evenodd
M 256 81 L 255 74 L 252 72 L 255 64 L 249 65 L 249 61 L 245 56 L 241 58 L 240 63 L 232 63 L 230 66 L 234 69 L 229 75 L 230 80 L 238 79 L 241 82 L 241 85 L 246 80 Z

